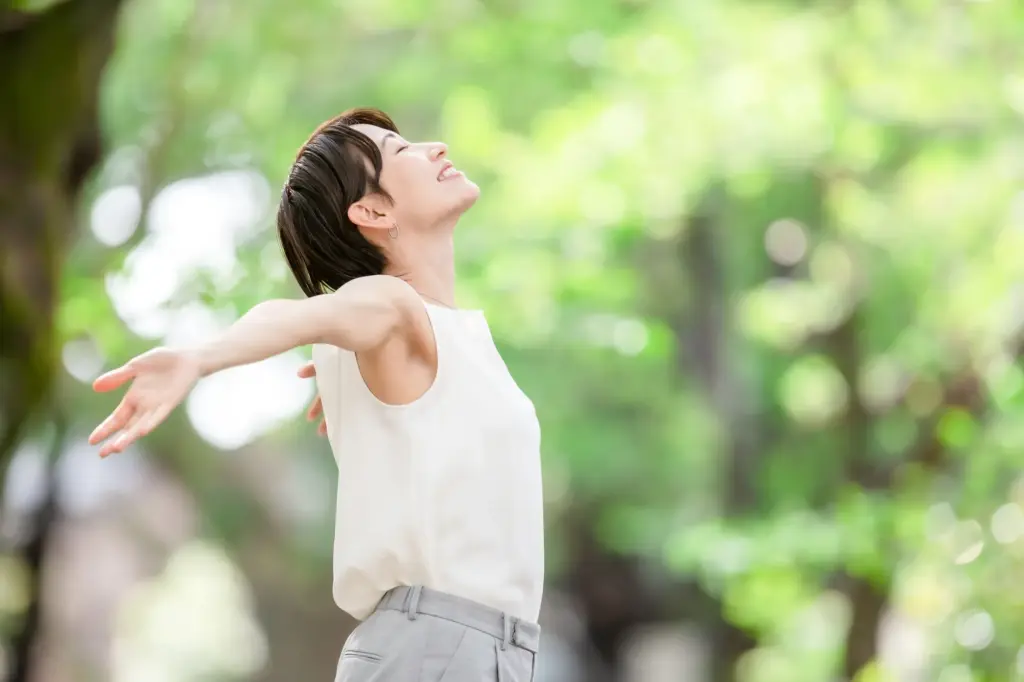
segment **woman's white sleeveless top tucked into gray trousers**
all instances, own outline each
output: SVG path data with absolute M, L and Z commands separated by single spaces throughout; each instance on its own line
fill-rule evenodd
M 422 585 L 536 623 L 544 583 L 541 429 L 482 312 L 425 304 L 437 375 L 381 402 L 355 354 L 313 347 L 338 463 L 334 599 L 364 620 Z

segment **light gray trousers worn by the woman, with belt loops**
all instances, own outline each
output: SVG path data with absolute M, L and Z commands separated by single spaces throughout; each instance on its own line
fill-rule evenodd
M 532 682 L 540 640 L 488 606 L 395 588 L 345 642 L 335 682 Z

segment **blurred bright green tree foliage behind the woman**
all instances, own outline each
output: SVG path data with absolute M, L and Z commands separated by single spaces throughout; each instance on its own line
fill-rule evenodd
M 897 679 L 852 653 L 867 602 L 927 633 L 925 679 L 1024 675 L 1024 5 L 135 0 L 121 22 L 65 341 L 106 366 L 160 342 L 104 284 L 145 219 L 113 249 L 89 230 L 118 185 L 148 207 L 258 172 L 232 276 L 188 272 L 165 306 L 297 295 L 276 188 L 317 123 L 379 106 L 482 187 L 461 302 L 542 418 L 553 584 L 582 520 L 721 602 L 758 643 L 738 679 Z M 112 404 L 60 395 L 80 430 Z M 331 478 L 310 431 L 263 446 Z M 258 503 L 184 415 L 146 447 L 212 537 L 251 542 Z M 330 534 L 288 541 L 306 580 Z

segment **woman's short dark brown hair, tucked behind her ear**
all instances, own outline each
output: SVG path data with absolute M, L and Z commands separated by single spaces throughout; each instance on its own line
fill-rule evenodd
M 369 124 L 397 133 L 384 112 L 352 109 L 321 124 L 299 150 L 281 194 L 278 235 L 285 258 L 306 296 L 316 296 L 372 274 L 387 259 L 348 218 L 349 207 L 380 186 L 381 153 L 352 126 Z

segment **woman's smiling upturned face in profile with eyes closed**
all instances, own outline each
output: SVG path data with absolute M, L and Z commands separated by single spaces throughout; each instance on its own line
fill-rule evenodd
M 442 142 L 410 142 L 372 125 L 352 128 L 381 151 L 380 183 L 391 196 L 387 212 L 399 231 L 452 227 L 480 196 L 480 188 L 449 161 Z

